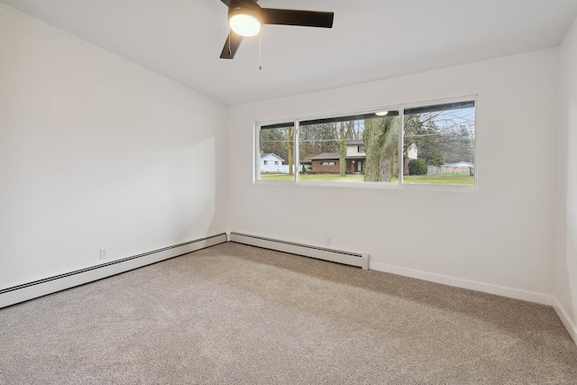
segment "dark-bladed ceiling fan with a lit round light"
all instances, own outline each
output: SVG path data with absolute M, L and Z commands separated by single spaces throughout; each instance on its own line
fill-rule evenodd
M 254 36 L 262 24 L 299 25 L 332 28 L 334 13 L 262 8 L 258 0 L 221 0 L 228 6 L 230 31 L 224 42 L 220 59 L 233 59 L 243 36 Z

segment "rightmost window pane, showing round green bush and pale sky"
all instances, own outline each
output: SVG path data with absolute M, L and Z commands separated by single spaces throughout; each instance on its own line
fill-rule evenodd
M 473 185 L 473 101 L 405 110 L 403 183 Z

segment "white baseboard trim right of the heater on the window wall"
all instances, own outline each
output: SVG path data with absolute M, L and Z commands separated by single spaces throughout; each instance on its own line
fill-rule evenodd
M 521 299 L 528 302 L 535 302 L 541 305 L 552 306 L 553 298 L 546 294 L 535 293 L 532 291 L 504 288 L 502 286 L 490 285 L 488 283 L 477 282 L 474 280 L 463 280 L 440 274 L 434 274 L 421 270 L 412 270 L 389 265 L 386 263 L 372 262 L 371 269 L 389 272 L 392 274 L 403 275 L 406 277 L 417 278 L 418 280 L 428 280 L 435 283 L 454 286 L 462 289 L 481 291 L 483 293 L 495 294 L 501 297 Z

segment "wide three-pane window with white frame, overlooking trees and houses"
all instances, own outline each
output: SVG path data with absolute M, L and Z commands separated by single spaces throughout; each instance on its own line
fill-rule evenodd
M 259 180 L 474 185 L 473 98 L 260 124 L 257 133 Z

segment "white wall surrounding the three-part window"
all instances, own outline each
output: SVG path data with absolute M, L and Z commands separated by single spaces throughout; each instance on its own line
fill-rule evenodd
M 371 269 L 551 303 L 556 68 L 557 50 L 541 50 L 230 107 L 229 225 L 320 246 L 330 236 L 369 252 Z M 473 94 L 475 192 L 252 184 L 255 121 Z

